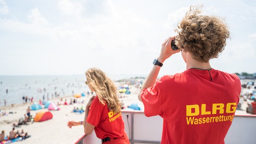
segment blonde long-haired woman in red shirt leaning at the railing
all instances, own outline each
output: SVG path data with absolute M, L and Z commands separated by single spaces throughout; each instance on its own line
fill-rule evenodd
M 96 96 L 87 103 L 84 121 L 68 121 L 67 125 L 69 128 L 83 125 L 86 135 L 95 130 L 102 144 L 130 144 L 114 82 L 98 68 L 89 68 L 85 74 L 85 83 Z

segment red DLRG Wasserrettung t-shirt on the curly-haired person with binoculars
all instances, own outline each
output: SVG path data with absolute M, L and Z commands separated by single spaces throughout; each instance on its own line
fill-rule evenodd
M 188 69 L 161 77 L 141 98 L 147 117 L 163 117 L 161 144 L 224 144 L 241 88 L 235 74 Z

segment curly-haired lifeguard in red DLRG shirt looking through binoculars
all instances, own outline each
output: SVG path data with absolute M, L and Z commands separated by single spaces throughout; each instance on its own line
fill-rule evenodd
M 178 28 L 178 35 L 162 44 L 138 99 L 147 117 L 163 118 L 161 144 L 224 144 L 241 82 L 209 61 L 224 50 L 229 30 L 220 18 L 202 15 L 200 6 L 191 6 Z M 171 48 L 173 39 L 178 50 Z M 165 60 L 180 51 L 186 70 L 157 79 Z

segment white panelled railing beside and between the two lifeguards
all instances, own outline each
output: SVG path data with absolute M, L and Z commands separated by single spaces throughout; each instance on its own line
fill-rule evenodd
M 160 144 L 163 119 L 146 117 L 142 111 L 122 111 L 125 131 L 131 144 Z M 255 144 L 256 115 L 235 115 L 225 144 Z M 81 135 L 73 144 L 101 144 L 95 132 Z

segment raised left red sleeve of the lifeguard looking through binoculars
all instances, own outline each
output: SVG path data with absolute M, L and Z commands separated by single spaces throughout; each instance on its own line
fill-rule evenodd
M 160 101 L 158 81 L 155 85 L 142 90 L 141 99 L 144 104 L 146 117 L 160 115 L 163 117 L 162 104 Z

